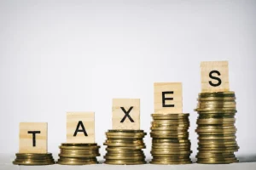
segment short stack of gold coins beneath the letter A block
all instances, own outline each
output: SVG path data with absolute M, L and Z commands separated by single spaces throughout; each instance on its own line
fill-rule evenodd
M 97 144 L 61 144 L 61 165 L 88 165 L 98 163 L 96 156 L 101 156 Z

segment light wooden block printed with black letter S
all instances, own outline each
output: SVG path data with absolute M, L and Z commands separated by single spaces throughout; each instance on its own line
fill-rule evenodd
M 201 91 L 230 91 L 228 61 L 201 62 Z

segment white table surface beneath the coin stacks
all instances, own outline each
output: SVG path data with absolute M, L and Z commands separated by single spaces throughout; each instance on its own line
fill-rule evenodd
M 55 156 L 55 159 L 57 157 Z M 0 156 L 0 169 L 2 170 L 155 170 L 160 168 L 160 170 L 255 170 L 256 169 L 256 155 L 255 156 L 238 156 L 240 162 L 227 164 L 227 165 L 203 165 L 203 164 L 189 164 L 189 165 L 130 165 L 130 166 L 116 166 L 116 165 L 106 165 L 106 164 L 97 164 L 97 165 L 86 165 L 86 166 L 63 166 L 63 165 L 50 165 L 50 166 L 16 166 L 12 164 L 12 161 L 15 159 L 14 155 L 1 155 Z M 100 160 L 101 161 L 101 160 Z M 102 161 L 101 161 L 102 162 Z

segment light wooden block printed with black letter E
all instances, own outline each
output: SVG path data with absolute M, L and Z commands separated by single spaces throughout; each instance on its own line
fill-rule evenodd
M 154 113 L 182 113 L 181 82 L 154 82 Z

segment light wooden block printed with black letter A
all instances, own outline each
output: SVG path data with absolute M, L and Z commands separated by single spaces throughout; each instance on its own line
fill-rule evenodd
M 67 143 L 95 143 L 94 112 L 67 112 Z

